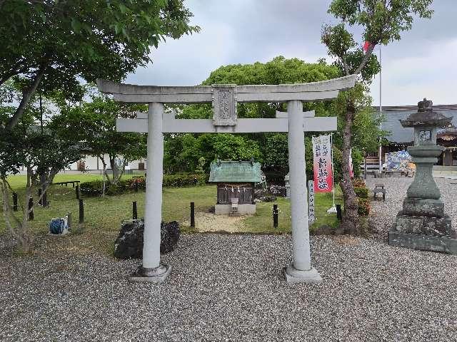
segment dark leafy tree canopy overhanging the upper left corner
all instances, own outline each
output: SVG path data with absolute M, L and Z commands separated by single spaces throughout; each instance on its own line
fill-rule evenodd
M 78 78 L 121 81 L 150 61 L 151 46 L 199 31 L 183 0 L 1 0 L 0 86 L 21 86 L 11 130 L 39 86 L 81 99 Z

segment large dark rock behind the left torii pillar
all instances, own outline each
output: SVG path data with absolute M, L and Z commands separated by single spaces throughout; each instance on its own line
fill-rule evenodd
M 160 229 L 160 252 L 173 252 L 178 244 L 179 223 L 172 221 L 162 222 Z M 114 242 L 114 257 L 119 259 L 141 259 L 143 257 L 144 220 L 132 219 L 121 224 L 121 231 Z

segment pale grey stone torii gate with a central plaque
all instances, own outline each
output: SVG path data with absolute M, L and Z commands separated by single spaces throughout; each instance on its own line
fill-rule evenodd
M 97 80 L 99 90 L 113 94 L 114 100 L 149 104 L 147 117 L 137 115 L 136 119 L 118 119 L 116 123 L 120 132 L 148 133 L 143 264 L 130 281 L 159 283 L 171 271 L 171 266 L 160 262 L 164 133 L 287 132 L 293 263 L 283 272 L 289 283 L 320 282 L 321 276 L 311 266 L 303 132 L 336 130 L 336 118 L 316 118 L 313 111 L 303 113 L 302 102 L 336 98 L 355 81 L 356 76 L 345 76 L 301 84 L 164 87 Z M 238 102 L 285 102 L 287 113 L 277 112 L 276 118 L 238 119 Z M 164 103 L 212 103 L 213 119 L 176 119 L 174 114 L 164 113 Z

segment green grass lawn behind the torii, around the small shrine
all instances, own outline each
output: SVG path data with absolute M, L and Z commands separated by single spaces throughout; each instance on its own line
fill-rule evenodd
M 129 177 L 129 176 L 126 176 Z M 68 180 L 80 180 L 87 182 L 90 180 L 101 179 L 101 175 L 57 175 L 55 182 L 64 182 Z M 11 187 L 19 193 L 19 201 L 21 195 L 24 194 L 26 176 L 11 176 L 9 177 Z M 139 217 L 144 217 L 144 192 L 129 193 L 119 196 L 106 197 L 83 197 L 84 199 L 84 234 L 72 234 L 70 239 L 74 239 L 74 243 L 78 248 L 88 250 L 99 250 L 110 252 L 113 248 L 114 239 L 119 233 L 121 221 L 131 219 L 132 202 L 138 203 Z M 36 200 L 36 196 L 35 200 Z M 162 217 L 164 221 L 176 220 L 184 222 L 189 220 L 189 204 L 195 202 L 196 212 L 207 212 L 211 206 L 215 204 L 216 186 L 204 185 L 199 187 L 180 187 L 180 188 L 164 188 L 163 190 L 163 205 Z M 78 220 L 78 201 L 73 187 L 53 185 L 48 191 L 48 200 L 51 202 L 49 208 L 34 208 L 34 221 L 30 222 L 32 232 L 38 236 L 44 236 L 48 232 L 47 222 L 52 217 L 64 217 L 67 212 L 73 215 L 74 226 Z M 341 191 L 336 193 L 336 202 L 342 202 Z M 287 233 L 291 231 L 291 209 L 290 201 L 278 197 L 276 203 L 279 208 L 278 228 L 273 228 L 272 209 L 273 203 L 259 202 L 257 203 L 257 213 L 252 217 L 243 219 L 243 225 L 246 232 L 253 233 Z M 328 224 L 336 227 L 338 222 L 336 214 L 327 214 L 326 209 L 331 207 L 331 194 L 316 194 L 315 199 L 316 222 L 311 229 Z M 0 212 L 1 212 L 0 207 Z M 21 212 L 18 212 L 18 217 Z M 4 217 L 0 215 L 0 234 L 5 230 Z M 193 232 L 191 227 L 182 227 L 184 232 Z

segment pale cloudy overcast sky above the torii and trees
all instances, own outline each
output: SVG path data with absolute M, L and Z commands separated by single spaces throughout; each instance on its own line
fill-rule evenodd
M 147 68 L 126 83 L 193 86 L 219 66 L 275 56 L 327 58 L 321 26 L 333 19 L 330 0 L 188 0 L 200 33 L 161 43 Z M 435 0 L 432 19 L 416 19 L 401 41 L 382 48 L 382 104 L 457 103 L 457 0 Z M 360 36 L 356 36 L 362 39 Z M 361 42 L 362 43 L 362 42 Z M 376 53 L 379 53 L 376 48 Z M 329 61 L 329 59 L 328 59 Z M 371 86 L 379 105 L 379 78 Z

